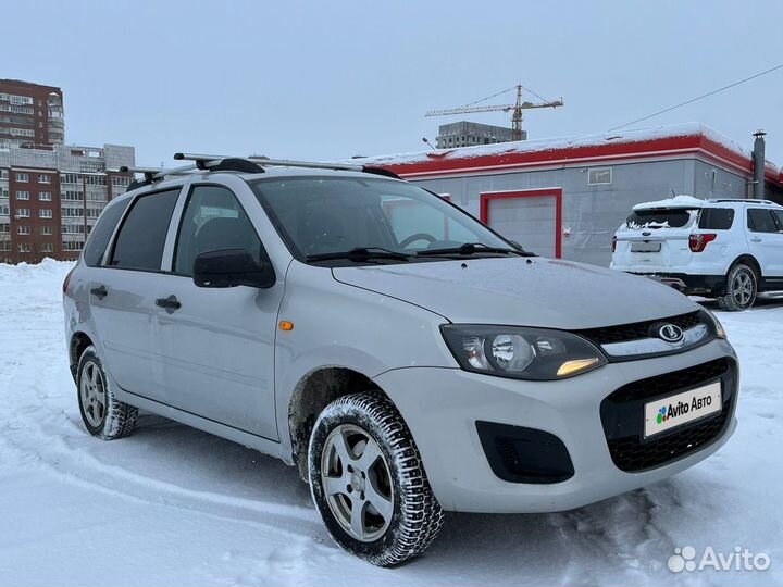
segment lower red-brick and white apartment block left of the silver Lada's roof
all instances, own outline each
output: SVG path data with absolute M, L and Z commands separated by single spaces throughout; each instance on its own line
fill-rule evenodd
M 0 147 L 0 262 L 75 260 L 105 204 L 124 193 L 133 147 Z

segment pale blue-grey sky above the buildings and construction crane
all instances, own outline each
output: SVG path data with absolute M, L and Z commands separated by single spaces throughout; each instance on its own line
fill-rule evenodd
M 566 101 L 526 113 L 530 138 L 602 132 L 783 63 L 782 13 L 781 0 L 30 0 L 3 5 L 0 77 L 60 86 L 67 142 L 134 145 L 142 165 L 178 150 L 337 159 L 421 150 L 460 120 L 425 111 L 517 83 Z M 763 128 L 783 165 L 782 114 L 779 70 L 637 126 L 699 121 L 748 148 Z

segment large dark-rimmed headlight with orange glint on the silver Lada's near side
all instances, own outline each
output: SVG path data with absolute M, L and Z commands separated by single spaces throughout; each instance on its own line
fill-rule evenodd
M 465 371 L 515 379 L 564 379 L 607 363 L 584 338 L 561 330 L 446 324 L 448 348 Z

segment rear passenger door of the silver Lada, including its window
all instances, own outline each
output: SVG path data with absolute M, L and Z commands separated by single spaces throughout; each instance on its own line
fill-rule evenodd
M 152 399 L 161 397 L 154 291 L 178 195 L 177 187 L 135 198 L 104 266 L 88 278 L 89 305 L 105 367 L 125 391 Z

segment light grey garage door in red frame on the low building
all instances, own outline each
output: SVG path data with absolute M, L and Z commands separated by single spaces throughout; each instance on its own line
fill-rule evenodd
M 496 198 L 488 202 L 489 226 L 525 250 L 555 257 L 557 198 L 530 196 Z

